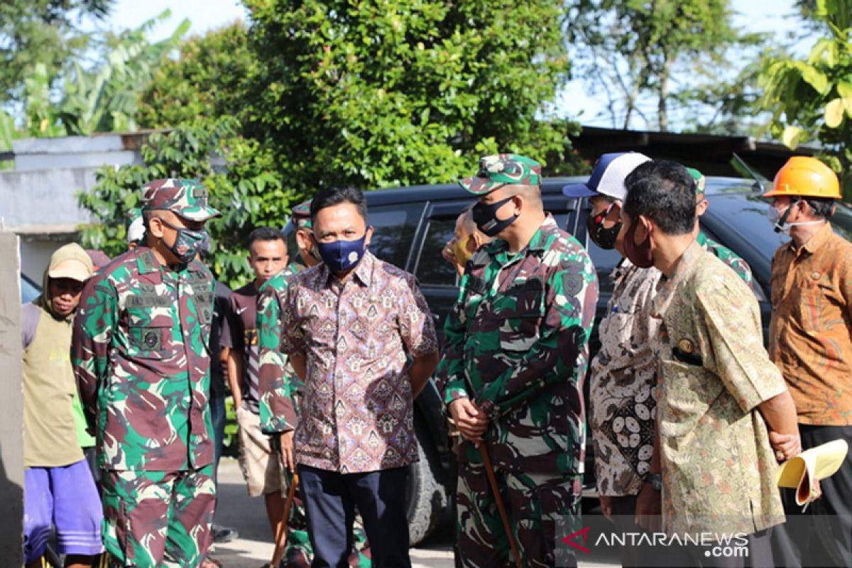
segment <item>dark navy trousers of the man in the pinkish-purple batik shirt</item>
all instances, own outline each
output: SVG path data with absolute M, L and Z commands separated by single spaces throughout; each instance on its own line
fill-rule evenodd
M 408 468 L 337 473 L 299 466 L 308 513 L 313 568 L 348 568 L 355 508 L 364 520 L 376 568 L 410 568 L 406 479 Z

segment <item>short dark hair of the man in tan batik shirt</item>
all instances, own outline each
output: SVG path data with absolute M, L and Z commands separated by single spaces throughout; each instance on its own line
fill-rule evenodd
M 695 181 L 681 164 L 653 160 L 634 169 L 625 180 L 625 212 L 645 215 L 668 235 L 695 228 Z

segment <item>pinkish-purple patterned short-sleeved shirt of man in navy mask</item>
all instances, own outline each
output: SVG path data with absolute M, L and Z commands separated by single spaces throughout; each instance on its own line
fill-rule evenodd
M 340 473 L 417 462 L 406 357 L 437 351 L 415 278 L 368 251 L 341 283 L 325 264 L 291 277 L 281 352 L 303 354 L 308 376 L 296 462 Z

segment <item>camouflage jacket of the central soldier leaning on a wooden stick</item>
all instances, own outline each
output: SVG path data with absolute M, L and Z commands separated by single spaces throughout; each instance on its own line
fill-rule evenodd
M 468 262 L 436 373 L 445 402 L 490 418 L 492 460 L 509 470 L 582 473 L 582 383 L 597 277 L 550 215 L 526 249 L 497 240 Z

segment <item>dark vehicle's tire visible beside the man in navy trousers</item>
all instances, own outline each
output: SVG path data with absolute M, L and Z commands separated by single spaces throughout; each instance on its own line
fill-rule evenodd
M 409 466 L 406 481 L 408 542 L 412 547 L 435 530 L 447 507 L 446 491 L 438 478 L 438 453 L 429 439 L 429 430 L 415 418 L 414 432 L 420 461 Z

